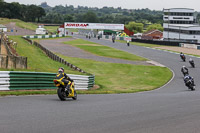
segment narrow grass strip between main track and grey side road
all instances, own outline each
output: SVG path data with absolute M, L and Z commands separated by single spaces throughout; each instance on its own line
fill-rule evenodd
M 98 56 L 110 57 L 110 58 L 118 58 L 132 61 L 145 61 L 147 59 L 123 52 L 111 47 L 103 46 L 97 43 L 89 42 L 82 39 L 71 40 L 68 42 L 64 42 L 65 44 L 73 45 L 78 48 L 81 48 L 87 52 Z

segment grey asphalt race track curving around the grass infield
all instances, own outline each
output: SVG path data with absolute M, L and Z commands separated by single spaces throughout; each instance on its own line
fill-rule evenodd
M 90 41 L 157 61 L 169 67 L 174 78 L 154 91 L 78 95 L 77 101 L 61 102 L 56 95 L 1 97 L 0 133 L 200 132 L 200 59 L 193 58 L 197 67 L 190 68 L 175 53 L 95 38 Z M 184 86 L 183 65 L 189 67 L 196 91 Z

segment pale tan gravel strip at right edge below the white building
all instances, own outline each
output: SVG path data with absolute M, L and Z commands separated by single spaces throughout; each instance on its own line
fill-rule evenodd
M 176 52 L 183 52 L 185 54 L 200 55 L 199 50 L 192 49 L 192 48 L 170 47 L 170 46 L 161 46 L 161 47 L 155 47 L 155 48 L 164 49 L 164 50 L 171 50 L 171 51 L 176 51 Z

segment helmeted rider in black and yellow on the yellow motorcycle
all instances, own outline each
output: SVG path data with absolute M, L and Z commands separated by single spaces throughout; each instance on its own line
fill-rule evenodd
M 69 81 L 73 82 L 73 80 L 64 73 L 64 68 L 60 67 L 58 69 L 58 73 L 56 74 L 56 79 L 61 79 L 62 82 L 65 83 L 65 88 L 70 93 L 70 85 L 68 85 Z

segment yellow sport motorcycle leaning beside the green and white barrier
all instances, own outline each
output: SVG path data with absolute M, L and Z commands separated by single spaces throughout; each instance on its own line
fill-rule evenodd
M 70 86 L 69 91 L 65 88 L 66 86 L 65 83 L 60 79 L 54 79 L 53 82 L 55 86 L 58 87 L 57 94 L 61 101 L 65 101 L 66 98 L 72 98 L 73 100 L 77 99 L 77 93 L 76 90 L 74 89 L 74 82 L 71 81 L 68 82 L 68 85 Z

